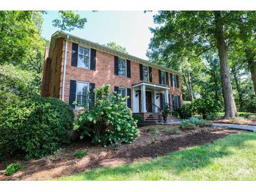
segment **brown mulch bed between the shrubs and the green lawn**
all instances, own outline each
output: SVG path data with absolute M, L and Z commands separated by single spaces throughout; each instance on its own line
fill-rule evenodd
M 227 128 L 200 128 L 182 131 L 177 135 L 167 135 L 162 130 L 155 135 L 142 128 L 141 136 L 132 144 L 123 144 L 119 149 L 111 147 L 90 146 L 90 144 L 73 144 L 57 151 L 54 155 L 37 160 L 21 160 L 0 163 L 0 180 L 46 180 L 68 176 L 76 172 L 91 170 L 95 167 L 114 167 L 135 161 L 144 161 L 157 156 L 164 156 L 172 151 L 186 149 L 189 146 L 203 145 L 215 139 L 234 135 L 242 130 Z M 88 155 L 77 159 L 74 151 L 86 149 Z M 25 168 L 11 177 L 4 175 L 9 163 L 24 163 Z

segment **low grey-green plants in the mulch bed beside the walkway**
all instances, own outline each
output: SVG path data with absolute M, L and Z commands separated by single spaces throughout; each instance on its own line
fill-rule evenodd
M 194 130 L 201 127 L 212 127 L 213 122 L 206 121 L 201 118 L 191 117 L 189 119 L 184 119 L 180 123 L 180 129 L 182 130 Z

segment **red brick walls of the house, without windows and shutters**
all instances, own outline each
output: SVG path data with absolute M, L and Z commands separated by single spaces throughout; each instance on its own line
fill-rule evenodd
M 60 53 L 62 52 L 62 53 Z M 55 50 L 53 53 L 53 62 L 55 62 L 55 56 L 61 55 L 61 68 L 58 71 L 58 75 L 52 76 L 53 82 L 51 83 L 50 95 L 53 96 L 53 85 L 60 88 L 58 95 L 59 98 L 62 97 L 62 72 L 64 67 L 64 55 L 65 55 L 65 41 L 63 39 L 58 39 L 56 41 Z M 100 50 L 96 50 L 96 70 L 88 70 L 79 67 L 73 67 L 71 65 L 72 58 L 72 42 L 68 42 L 67 45 L 67 67 L 66 67 L 66 78 L 65 78 L 65 102 L 69 102 L 69 83 L 70 80 L 75 81 L 86 81 L 90 83 L 95 83 L 95 88 L 100 88 L 107 83 L 111 84 L 111 90 L 114 90 L 114 86 L 132 88 L 135 83 L 140 83 L 140 64 L 137 62 L 130 61 L 131 78 L 126 78 L 122 76 L 114 75 L 114 55 L 108 53 L 103 53 Z M 59 64 L 60 66 L 60 64 Z M 55 68 L 52 67 L 52 70 Z M 170 76 L 168 77 L 170 85 Z M 159 69 L 152 68 L 152 83 L 159 84 Z M 180 88 L 170 88 L 170 95 L 181 95 L 182 99 L 182 89 L 181 89 L 181 79 Z M 133 92 L 132 92 L 133 94 Z M 133 95 L 131 98 L 131 103 L 133 107 Z

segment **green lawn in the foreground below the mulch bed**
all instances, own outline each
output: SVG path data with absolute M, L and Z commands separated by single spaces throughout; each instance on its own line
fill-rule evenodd
M 256 134 L 244 132 L 149 160 L 58 180 L 256 180 Z

